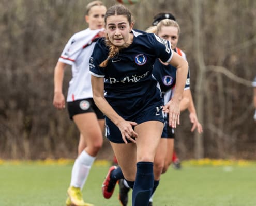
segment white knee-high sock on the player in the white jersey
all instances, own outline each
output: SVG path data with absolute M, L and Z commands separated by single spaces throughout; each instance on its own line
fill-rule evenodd
M 70 186 L 79 187 L 82 190 L 95 158 L 84 150 L 81 152 L 74 161 Z

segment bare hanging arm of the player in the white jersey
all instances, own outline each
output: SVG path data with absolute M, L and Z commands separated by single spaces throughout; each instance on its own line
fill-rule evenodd
M 65 108 L 65 97 L 62 91 L 64 70 L 67 64 L 58 61 L 54 69 L 54 97 L 53 105 L 57 109 Z

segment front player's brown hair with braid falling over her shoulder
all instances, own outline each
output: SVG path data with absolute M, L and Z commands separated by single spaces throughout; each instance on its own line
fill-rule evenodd
M 131 25 L 131 21 L 132 21 L 131 20 L 131 12 L 124 5 L 117 4 L 117 5 L 110 7 L 107 10 L 107 12 L 105 14 L 105 25 L 107 25 L 107 18 L 109 16 L 113 16 L 113 15 L 126 16 L 129 24 Z M 118 46 L 115 46 L 114 44 L 111 43 L 111 41 L 109 40 L 108 34 L 106 35 L 106 45 L 109 47 L 109 56 L 106 60 L 101 62 L 101 64 L 100 64 L 101 67 L 106 67 L 109 60 L 111 58 L 113 58 L 116 54 L 118 54 L 118 52 L 120 50 L 120 48 Z

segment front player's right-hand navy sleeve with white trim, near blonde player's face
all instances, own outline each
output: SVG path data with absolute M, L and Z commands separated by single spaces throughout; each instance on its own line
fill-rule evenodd
M 150 34 L 149 41 L 152 42 L 157 58 L 161 59 L 163 62 L 171 61 L 173 53 L 169 41 L 158 37 L 154 33 Z

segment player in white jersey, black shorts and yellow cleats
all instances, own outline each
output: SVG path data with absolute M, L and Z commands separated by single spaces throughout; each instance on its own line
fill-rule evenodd
M 85 21 L 89 27 L 70 38 L 54 71 L 53 105 L 57 109 L 64 109 L 65 98 L 62 92 L 64 70 L 66 65 L 72 66 L 67 106 L 70 119 L 76 123 L 80 131 L 78 157 L 72 168 L 71 183 L 67 191 L 68 206 L 90 205 L 84 202 L 81 190 L 103 143 L 104 115 L 93 101 L 88 63 L 96 39 L 104 36 L 106 10 L 101 1 L 93 1 L 86 6 Z

